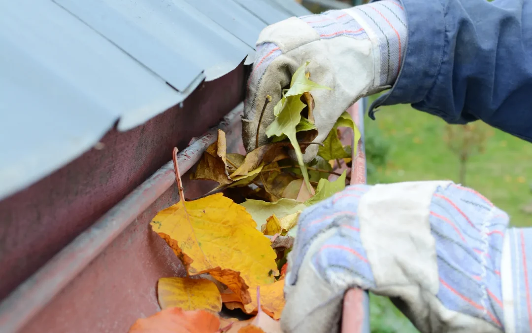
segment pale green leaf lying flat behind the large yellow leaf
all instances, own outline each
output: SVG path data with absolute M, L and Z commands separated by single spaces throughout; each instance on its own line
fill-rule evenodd
M 257 230 L 260 230 L 261 226 L 266 223 L 267 218 L 273 214 L 278 218 L 283 218 L 306 208 L 305 204 L 300 201 L 285 198 L 276 202 L 246 199 L 246 202 L 243 202 L 240 206 L 244 206 L 247 212 L 251 214 L 253 221 L 257 224 Z

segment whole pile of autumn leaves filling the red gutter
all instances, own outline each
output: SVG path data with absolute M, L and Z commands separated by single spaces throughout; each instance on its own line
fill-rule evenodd
M 181 191 L 177 204 L 153 218 L 153 231 L 181 259 L 188 275 L 160 279 L 162 311 L 137 320 L 130 332 L 281 331 L 286 255 L 298 215 L 345 187 L 345 170 L 336 173 L 333 166 L 343 164 L 345 169 L 354 155 L 340 142 L 337 128 L 350 127 L 355 140 L 360 138 L 344 112 L 317 158 L 303 163 L 302 153 L 318 134 L 310 91 L 326 88 L 309 79 L 307 65 L 295 72 L 275 105 L 277 118 L 266 133 L 272 143 L 245 156 L 228 153 L 225 133 L 219 131 L 217 142 L 207 148 L 192 175 L 218 182 L 214 194 L 185 201 Z M 290 150 L 295 151 L 297 165 Z M 255 316 L 244 321 L 222 318 L 222 305 Z

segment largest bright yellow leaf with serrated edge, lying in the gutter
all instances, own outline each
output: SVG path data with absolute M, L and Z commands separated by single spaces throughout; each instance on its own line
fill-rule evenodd
M 186 209 L 185 209 L 186 208 Z M 221 193 L 161 210 L 153 231 L 167 241 L 191 274 L 221 267 L 240 272 L 248 286 L 264 285 L 277 275 L 276 254 L 257 231 L 246 209 Z

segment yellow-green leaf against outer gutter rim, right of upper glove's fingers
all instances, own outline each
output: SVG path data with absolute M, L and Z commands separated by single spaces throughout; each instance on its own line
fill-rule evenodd
M 336 120 L 336 124 L 332 127 L 329 134 L 327 134 L 326 139 L 323 141 L 323 147 L 318 149 L 318 156 L 323 157 L 326 160 L 332 160 L 337 158 L 348 158 L 351 157 L 351 147 L 342 145 L 340 139 L 338 139 L 337 129 L 338 127 L 349 127 L 353 129 L 355 135 L 355 143 L 360 140 L 360 131 L 355 126 L 353 118 L 351 115 L 344 111 L 342 115 Z M 349 147 L 348 149 L 346 149 Z M 355 147 L 356 155 L 356 147 Z

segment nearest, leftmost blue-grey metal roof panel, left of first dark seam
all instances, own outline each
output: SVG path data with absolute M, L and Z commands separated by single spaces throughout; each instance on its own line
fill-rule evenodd
M 0 198 L 79 156 L 120 115 L 185 98 L 50 1 L 2 2 L 0 45 Z

